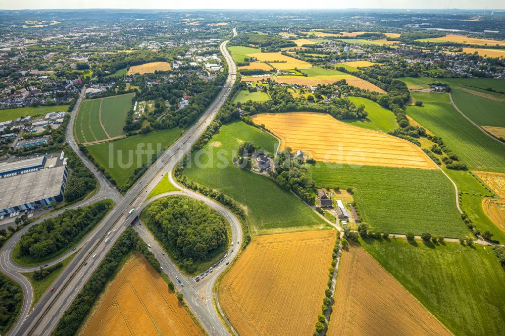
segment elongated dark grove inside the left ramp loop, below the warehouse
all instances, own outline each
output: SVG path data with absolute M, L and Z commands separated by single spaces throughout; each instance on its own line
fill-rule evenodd
M 43 259 L 77 242 L 104 218 L 111 200 L 98 201 L 84 208 L 69 209 L 47 218 L 21 236 L 19 256 Z

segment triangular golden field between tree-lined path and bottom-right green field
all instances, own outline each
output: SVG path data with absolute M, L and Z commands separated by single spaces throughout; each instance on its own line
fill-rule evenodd
M 355 243 L 342 251 L 335 293 L 328 336 L 451 334 Z

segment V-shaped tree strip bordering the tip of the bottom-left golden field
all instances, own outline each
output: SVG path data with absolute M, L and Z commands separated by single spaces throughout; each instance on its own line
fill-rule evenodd
M 116 271 L 121 266 L 120 261 L 124 260 L 125 256 L 133 251 L 143 255 L 157 272 L 161 272 L 160 263 L 154 254 L 147 248 L 147 245 L 145 245 L 135 230 L 127 228 L 119 236 L 96 271 L 91 275 L 74 302 L 65 311 L 53 335 L 70 336 L 75 334 L 75 331 L 84 322 L 100 293 L 106 288 L 107 283 L 114 278 Z M 174 285 L 170 281 L 168 281 L 168 286 L 173 291 Z

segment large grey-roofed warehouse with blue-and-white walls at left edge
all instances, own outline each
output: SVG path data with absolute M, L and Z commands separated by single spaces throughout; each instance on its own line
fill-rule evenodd
M 63 200 L 68 177 L 63 153 L 60 157 L 46 159 L 45 156 L 41 156 L 40 159 L 41 161 L 20 160 L 12 162 L 17 165 L 8 165 L 8 167 L 6 167 L 8 162 L 0 163 L 0 169 L 4 170 L 19 170 L 23 166 L 40 162 L 45 163 L 46 166 L 42 169 L 29 168 L 0 178 L 0 190 L 2 190 L 0 193 L 0 215 L 35 209 L 44 205 L 49 206 L 51 202 L 57 203 Z

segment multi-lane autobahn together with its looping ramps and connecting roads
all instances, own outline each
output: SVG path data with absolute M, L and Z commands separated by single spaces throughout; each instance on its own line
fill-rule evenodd
M 236 35 L 235 29 L 233 29 L 233 33 Z M 23 228 L 23 230 L 14 235 L 4 246 L 1 251 L 0 268 L 4 273 L 16 279 L 16 281 L 22 285 L 23 292 L 25 293 L 22 312 L 10 334 L 50 334 L 56 327 L 65 310 L 82 289 L 92 272 L 103 260 L 121 232 L 131 225 L 132 221 L 137 220 L 135 215 L 128 216 L 128 211 L 135 208 L 135 213 L 138 214 L 147 204 L 156 200 L 157 198 L 153 198 L 150 199 L 149 202 L 145 202 L 147 195 L 156 187 L 162 178 L 170 178 L 172 183 L 175 183 L 171 176 L 171 172 L 216 116 L 217 111 L 228 97 L 231 87 L 235 82 L 236 66 L 230 54 L 226 50 L 226 43 L 227 41 L 223 42 L 220 45 L 220 49 L 226 59 L 226 62 L 228 63 L 229 75 L 226 84 L 219 93 L 218 97 L 207 109 L 204 115 L 200 117 L 198 122 L 188 129 L 168 150 L 165 151 L 164 154 L 161 155 L 161 157 L 153 165 L 151 165 L 141 180 L 138 181 L 124 195 L 124 197 L 121 197 L 121 195 L 117 193 L 117 191 L 109 184 L 101 173 L 96 172 L 95 167 L 82 155 L 82 153 L 79 152 L 77 148 L 72 134 L 72 125 L 75 118 L 75 111 L 77 110 L 82 98 L 82 95 L 80 96 L 78 103 L 76 104 L 76 108 L 74 108 L 74 112 L 72 113 L 72 123 L 70 123 L 67 129 L 67 142 L 69 142 L 74 150 L 79 153 L 81 159 L 83 159 L 88 168 L 93 171 L 99 181 L 99 189 L 97 193 L 92 199 L 86 201 L 86 204 L 95 202 L 98 199 L 111 198 L 116 202 L 116 205 L 106 218 L 97 226 L 97 228 L 95 228 L 84 239 L 84 241 L 79 244 L 76 256 L 53 283 L 52 287 L 55 287 L 55 291 L 53 293 L 47 292 L 43 295 L 31 311 L 29 311 L 32 301 L 30 283 L 20 273 L 32 271 L 37 267 L 22 267 L 16 265 L 12 260 L 12 250 L 16 242 L 19 241 L 20 235 L 28 230 L 28 227 Z M 185 195 L 206 202 L 210 207 L 219 211 L 229 221 L 232 231 L 232 241 L 235 243 L 242 241 L 240 223 L 230 210 L 203 195 L 182 187 L 180 187 L 180 189 L 180 192 L 168 193 L 166 195 Z M 159 195 L 158 198 L 162 196 L 164 195 Z M 59 212 L 54 212 L 52 215 L 56 215 L 58 213 Z M 39 219 L 39 221 L 40 220 L 41 219 Z M 174 284 L 178 285 L 176 276 L 182 279 L 181 281 L 185 287 L 181 288 L 181 286 L 178 286 L 178 290 L 184 294 L 189 307 L 194 311 L 195 315 L 208 332 L 211 335 L 228 334 L 228 331 L 221 323 L 211 300 L 213 296 L 212 287 L 219 274 L 225 269 L 225 262 L 223 261 L 216 270 L 211 273 L 211 275 L 204 279 L 204 281 L 195 283 L 193 279 L 184 276 L 171 262 L 171 260 L 163 254 L 164 252 L 162 252 L 162 248 L 155 242 L 154 238 L 143 228 L 143 226 L 136 223 L 134 227 L 140 237 L 151 245 L 151 250 L 155 253 L 156 257 L 163 266 L 164 271 L 169 275 Z M 109 231 L 112 231 L 110 236 L 107 235 Z M 109 243 L 105 243 L 105 237 L 110 238 Z M 70 253 L 72 252 L 69 252 L 69 254 Z M 238 249 L 235 249 L 233 252 L 230 250 L 227 260 L 231 261 L 237 253 Z M 59 260 L 65 258 L 69 254 L 62 256 Z M 57 261 L 52 261 L 50 264 L 55 262 Z

